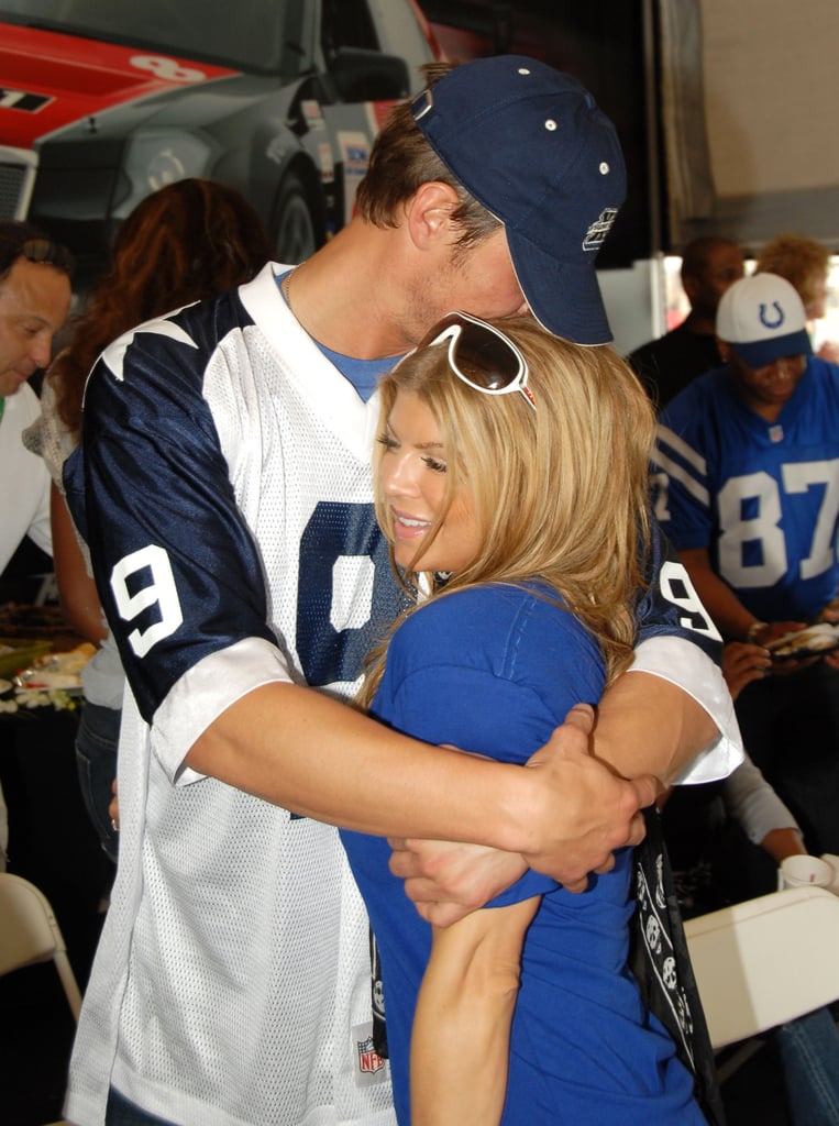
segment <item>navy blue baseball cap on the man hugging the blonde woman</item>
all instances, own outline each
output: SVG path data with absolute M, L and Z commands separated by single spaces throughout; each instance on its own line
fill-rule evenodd
M 624 202 L 626 169 L 589 91 L 535 59 L 496 55 L 455 66 L 412 109 L 446 168 L 503 223 L 537 320 L 575 343 L 608 343 L 595 259 Z

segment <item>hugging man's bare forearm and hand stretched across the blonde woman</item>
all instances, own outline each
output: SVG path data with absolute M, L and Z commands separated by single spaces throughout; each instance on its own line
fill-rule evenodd
M 590 709 L 580 711 L 590 725 Z M 655 786 L 616 777 L 589 754 L 584 732 L 561 731 L 523 769 L 408 739 L 309 688 L 269 683 L 214 720 L 186 766 L 347 829 L 521 854 L 581 890 L 615 848 L 642 839 L 637 811 Z

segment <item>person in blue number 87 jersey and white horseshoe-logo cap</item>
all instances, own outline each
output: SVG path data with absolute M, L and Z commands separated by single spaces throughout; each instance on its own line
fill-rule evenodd
M 801 297 L 776 275 L 737 282 L 716 325 L 725 366 L 660 418 L 657 511 L 723 635 L 766 646 L 837 595 L 839 368 L 811 354 Z M 774 660 L 737 714 L 810 849 L 836 852 L 836 656 Z

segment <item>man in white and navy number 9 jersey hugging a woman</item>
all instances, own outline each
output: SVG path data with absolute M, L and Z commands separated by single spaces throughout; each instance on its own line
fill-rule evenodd
M 139 325 L 87 384 L 63 480 L 130 691 L 119 863 L 65 1110 L 82 1126 L 390 1126 L 369 927 L 332 825 L 494 846 L 507 884 L 530 864 L 581 890 L 641 835 L 652 774 L 707 747 L 691 771 L 718 776 L 739 756 L 715 631 L 670 560 L 639 606 L 639 671 L 598 723 L 626 778 L 574 729 L 521 770 L 348 706 L 407 598 L 373 510 L 377 377 L 456 307 L 609 337 L 612 123 L 533 60 L 429 83 L 389 118 L 334 239 Z M 498 891 L 485 868 L 467 883 L 446 893 L 464 910 Z

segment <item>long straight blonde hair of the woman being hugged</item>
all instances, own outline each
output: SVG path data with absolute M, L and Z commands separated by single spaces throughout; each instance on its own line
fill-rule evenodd
M 490 395 L 463 383 L 445 347 L 414 354 L 381 384 L 382 427 L 398 393 L 411 392 L 430 408 L 448 452 L 444 511 L 429 535 L 464 488 L 481 530 L 477 556 L 431 597 L 479 583 L 541 580 L 595 635 L 612 680 L 632 658 L 649 554 L 650 400 L 610 348 L 560 340 L 532 318 L 490 323 L 525 356 L 535 411 L 520 394 Z M 380 446 L 376 481 L 383 453 Z M 376 516 L 392 540 L 378 483 Z M 401 579 L 419 589 L 423 577 Z M 432 577 L 425 579 L 434 586 Z M 364 705 L 381 680 L 386 649 L 387 641 L 371 655 Z

